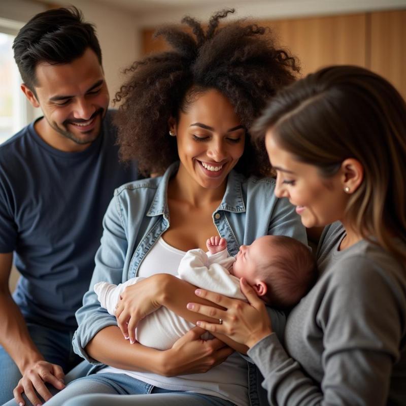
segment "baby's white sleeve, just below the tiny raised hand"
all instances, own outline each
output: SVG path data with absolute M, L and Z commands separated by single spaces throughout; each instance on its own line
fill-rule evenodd
M 226 267 L 214 262 L 215 260 L 228 266 L 234 262 L 234 258 L 227 257 L 226 250 L 211 254 L 210 257 L 201 249 L 187 251 L 178 268 L 179 276 L 199 288 L 246 300 L 241 293 L 240 279 L 231 275 Z

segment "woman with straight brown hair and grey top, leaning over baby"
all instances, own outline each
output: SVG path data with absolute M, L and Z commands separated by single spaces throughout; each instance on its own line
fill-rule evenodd
M 277 172 L 275 194 L 303 225 L 327 226 L 320 278 L 288 316 L 284 348 L 263 304 L 196 291 L 225 310 L 198 322 L 250 347 L 278 405 L 406 404 L 406 105 L 380 76 L 332 66 L 282 90 L 251 133 Z

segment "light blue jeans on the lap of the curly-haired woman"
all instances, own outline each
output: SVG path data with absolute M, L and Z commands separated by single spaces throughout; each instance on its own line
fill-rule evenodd
M 122 396 L 127 395 L 127 396 Z M 157 388 L 125 374 L 93 374 L 71 382 L 46 406 L 234 406 L 216 396 Z

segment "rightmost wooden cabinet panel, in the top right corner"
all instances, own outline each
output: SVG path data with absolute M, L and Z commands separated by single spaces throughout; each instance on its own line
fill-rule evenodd
M 388 79 L 406 98 L 406 10 L 370 14 L 369 69 Z

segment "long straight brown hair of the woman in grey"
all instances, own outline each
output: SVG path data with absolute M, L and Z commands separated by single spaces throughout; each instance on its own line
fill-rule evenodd
M 364 179 L 346 217 L 363 238 L 404 263 L 406 104 L 399 92 L 362 67 L 329 66 L 281 90 L 250 132 L 263 144 L 270 128 L 281 148 L 325 178 L 346 158 L 362 164 Z

